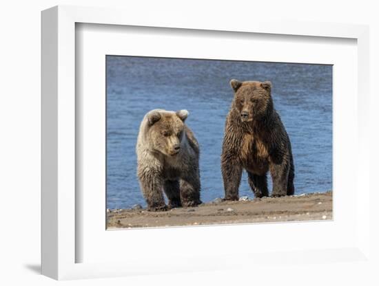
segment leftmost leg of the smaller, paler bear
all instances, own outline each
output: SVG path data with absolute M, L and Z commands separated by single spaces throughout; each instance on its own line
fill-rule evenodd
M 151 170 L 141 171 L 138 175 L 143 197 L 145 197 L 147 203 L 147 210 L 167 210 L 163 197 L 163 180 L 161 175 Z

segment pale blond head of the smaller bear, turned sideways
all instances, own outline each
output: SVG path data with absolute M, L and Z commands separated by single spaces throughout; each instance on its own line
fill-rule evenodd
M 148 137 L 154 151 L 174 156 L 181 151 L 188 111 L 153 110 L 147 113 Z

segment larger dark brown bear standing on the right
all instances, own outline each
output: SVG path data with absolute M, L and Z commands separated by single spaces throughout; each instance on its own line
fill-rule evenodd
M 232 106 L 225 122 L 221 155 L 225 200 L 238 200 L 243 169 L 254 197 L 267 197 L 267 172 L 272 197 L 294 195 L 294 159 L 285 126 L 274 109 L 269 81 L 231 80 Z

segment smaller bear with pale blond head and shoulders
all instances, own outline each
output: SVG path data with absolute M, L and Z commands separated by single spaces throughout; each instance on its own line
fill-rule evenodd
M 184 123 L 187 110 L 154 109 L 141 122 L 136 144 L 137 175 L 147 209 L 197 206 L 200 200 L 199 147 Z

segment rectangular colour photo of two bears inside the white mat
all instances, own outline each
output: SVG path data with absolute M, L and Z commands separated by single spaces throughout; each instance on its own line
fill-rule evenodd
M 332 219 L 332 65 L 105 60 L 107 229 Z

